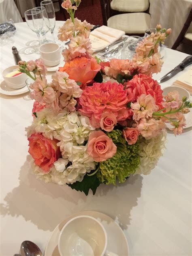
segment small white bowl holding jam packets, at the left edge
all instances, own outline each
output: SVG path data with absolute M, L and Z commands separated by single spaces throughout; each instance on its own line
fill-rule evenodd
M 2 76 L 4 78 L 6 85 L 9 86 L 11 89 L 20 89 L 26 86 L 26 79 L 28 76 L 24 73 L 21 73 L 20 75 L 17 75 L 15 77 L 6 77 L 8 73 L 17 69 L 19 69 L 19 66 L 15 65 L 4 69 L 2 72 Z

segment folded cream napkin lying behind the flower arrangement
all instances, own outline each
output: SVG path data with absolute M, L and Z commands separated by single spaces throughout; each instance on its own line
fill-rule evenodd
M 101 26 L 90 33 L 93 51 L 101 51 L 125 34 L 122 30 Z

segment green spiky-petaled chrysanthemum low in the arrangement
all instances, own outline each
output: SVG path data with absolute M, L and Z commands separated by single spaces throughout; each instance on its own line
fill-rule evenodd
M 126 180 L 130 173 L 134 173 L 140 164 L 139 143 L 128 145 L 122 136 L 121 130 L 112 130 L 107 136 L 113 140 L 117 146 L 117 153 L 110 159 L 100 162 L 99 170 L 96 173 L 100 182 L 106 184 L 116 184 Z

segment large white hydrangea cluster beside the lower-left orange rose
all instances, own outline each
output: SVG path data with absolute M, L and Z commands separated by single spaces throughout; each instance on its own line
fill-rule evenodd
M 87 145 L 83 145 L 90 132 L 95 130 L 88 117 L 65 110 L 54 115 L 49 109 L 43 109 L 26 130 L 28 137 L 34 132 L 40 132 L 48 139 L 58 139 L 57 145 L 62 152 L 62 158 L 54 162 L 49 173 L 44 173 L 33 163 L 37 178 L 59 185 L 73 184 L 82 181 L 86 173 L 95 169 L 94 160 L 87 154 Z M 71 163 L 69 166 L 68 162 Z

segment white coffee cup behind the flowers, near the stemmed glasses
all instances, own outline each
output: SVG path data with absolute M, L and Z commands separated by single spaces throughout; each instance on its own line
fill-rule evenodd
M 60 63 L 61 51 L 56 43 L 46 43 L 39 47 L 41 58 L 46 66 L 57 66 Z

